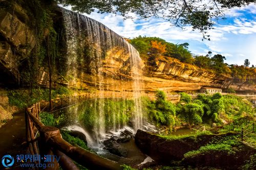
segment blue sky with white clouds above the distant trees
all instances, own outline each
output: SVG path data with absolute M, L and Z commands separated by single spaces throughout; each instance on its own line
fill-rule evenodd
M 71 7 L 65 7 L 71 9 Z M 188 42 L 188 50 L 195 55 L 221 54 L 228 64 L 243 65 L 249 59 L 256 65 L 256 5 L 233 8 L 225 12 L 225 20 L 219 20 L 214 30 L 208 31 L 209 40 L 202 41 L 202 33 L 191 31 L 191 27 L 181 30 L 170 26 L 168 21 L 150 18 L 147 20 L 123 19 L 120 15 L 92 12 L 89 16 L 125 38 L 139 35 L 159 37 L 168 42 L 181 44 Z M 136 18 L 135 14 L 133 15 Z

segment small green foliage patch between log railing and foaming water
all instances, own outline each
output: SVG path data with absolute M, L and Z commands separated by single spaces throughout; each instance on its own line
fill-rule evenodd
M 74 137 L 74 136 L 71 136 L 69 134 L 69 131 L 63 131 L 61 130 L 61 136 L 64 140 L 66 140 L 67 142 L 69 142 L 70 144 L 72 145 L 78 145 L 79 147 L 85 149 L 85 150 L 90 150 L 88 147 L 87 147 L 87 144 L 86 142 L 82 141 L 81 139 L 79 139 L 78 137 Z

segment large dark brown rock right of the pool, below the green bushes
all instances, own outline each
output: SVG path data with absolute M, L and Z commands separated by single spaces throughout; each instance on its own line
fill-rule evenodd
M 143 153 L 152 157 L 155 161 L 170 163 L 174 160 L 181 160 L 184 158 L 184 154 L 189 151 L 198 150 L 212 138 L 223 137 L 225 135 L 233 134 L 189 136 L 168 140 L 156 134 L 138 130 L 135 135 L 135 142 Z

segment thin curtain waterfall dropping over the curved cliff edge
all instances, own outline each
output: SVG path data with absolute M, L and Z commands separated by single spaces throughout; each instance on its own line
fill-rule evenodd
M 116 96 L 116 91 L 123 94 L 132 93 L 135 101 L 133 128 L 135 131 L 143 128 L 140 100 L 141 66 L 143 63 L 138 51 L 102 23 L 64 8 L 61 10 L 67 46 L 65 76 L 69 85 L 79 88 L 78 79 L 81 81 L 86 77 L 100 96 L 110 92 L 112 96 Z M 115 77 L 116 75 L 119 76 L 119 80 Z M 122 78 L 122 75 L 126 75 L 126 77 Z M 120 77 L 125 81 L 120 80 Z M 127 85 L 127 88 L 123 88 L 127 82 L 131 87 Z M 100 142 L 106 133 L 104 99 L 95 100 L 92 109 L 97 110 L 98 114 L 93 131 L 96 140 Z M 121 128 L 121 123 L 118 120 L 123 114 L 120 112 L 113 115 L 113 131 L 118 131 Z

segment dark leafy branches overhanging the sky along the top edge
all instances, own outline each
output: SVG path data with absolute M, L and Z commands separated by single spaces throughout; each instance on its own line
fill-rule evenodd
M 163 18 L 172 22 L 174 26 L 183 28 L 190 25 L 193 30 L 200 30 L 203 38 L 209 39 L 205 35 L 206 31 L 212 29 L 212 26 L 219 18 L 224 18 L 225 8 L 242 7 L 255 0 L 131 0 L 131 1 L 104 1 L 104 0 L 55 0 L 65 6 L 71 5 L 72 9 L 82 13 L 90 14 L 95 9 L 99 13 L 120 14 L 125 18 L 132 18 L 131 12 L 147 19 L 150 17 Z

